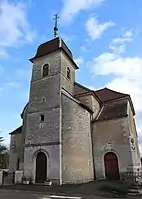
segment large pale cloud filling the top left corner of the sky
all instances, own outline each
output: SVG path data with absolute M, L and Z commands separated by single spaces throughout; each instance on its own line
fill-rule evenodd
M 35 32 L 27 20 L 27 10 L 22 2 L 0 1 L 0 46 L 18 47 L 33 41 Z

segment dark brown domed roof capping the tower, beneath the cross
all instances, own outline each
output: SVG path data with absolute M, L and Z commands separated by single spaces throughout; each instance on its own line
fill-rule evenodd
M 37 59 L 39 57 L 42 57 L 44 55 L 50 54 L 56 50 L 62 49 L 64 53 L 67 55 L 67 57 L 70 59 L 71 62 L 75 65 L 75 68 L 78 69 L 77 64 L 73 60 L 73 55 L 70 49 L 67 47 L 65 42 L 60 39 L 59 37 L 56 37 L 50 41 L 47 41 L 43 44 L 41 44 L 37 48 L 37 52 L 33 58 L 30 59 L 31 62 L 33 62 L 34 59 Z

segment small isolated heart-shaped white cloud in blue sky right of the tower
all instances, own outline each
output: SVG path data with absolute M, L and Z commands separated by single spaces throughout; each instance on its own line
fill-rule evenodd
M 86 30 L 92 40 L 99 39 L 108 28 L 114 26 L 112 21 L 100 23 L 96 17 L 90 17 L 86 22 Z

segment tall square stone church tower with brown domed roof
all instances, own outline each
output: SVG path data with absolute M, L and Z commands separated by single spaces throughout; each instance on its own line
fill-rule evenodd
M 37 183 L 44 182 L 48 176 L 61 184 L 61 89 L 74 94 L 78 67 L 59 37 L 41 44 L 30 61 L 33 69 L 26 118 L 24 176 Z M 43 164 L 45 169 L 41 170 Z

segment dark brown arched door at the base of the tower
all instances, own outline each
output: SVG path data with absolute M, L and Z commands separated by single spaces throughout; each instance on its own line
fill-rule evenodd
M 36 183 L 44 183 L 47 178 L 47 158 L 45 153 L 39 152 L 36 158 Z

